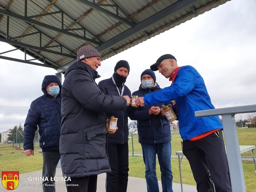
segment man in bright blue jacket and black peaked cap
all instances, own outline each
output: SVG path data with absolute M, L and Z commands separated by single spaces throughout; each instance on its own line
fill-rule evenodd
M 175 100 L 183 154 L 190 163 L 197 191 L 210 191 L 210 173 L 216 192 L 231 192 L 221 121 L 218 116 L 195 117 L 195 111 L 214 109 L 202 76 L 192 66 L 178 67 L 170 54 L 159 57 L 150 68 L 169 78 L 172 85 L 140 97 L 140 105 Z

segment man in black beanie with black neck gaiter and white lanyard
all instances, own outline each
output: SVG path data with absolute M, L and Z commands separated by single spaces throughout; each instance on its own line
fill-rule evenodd
M 125 60 L 120 60 L 114 67 L 114 74 L 111 78 L 99 82 L 102 93 L 108 95 L 131 96 L 131 91 L 124 83 L 129 75 L 130 66 Z M 137 106 L 139 104 L 137 103 Z M 108 155 L 111 166 L 111 173 L 107 173 L 106 192 L 126 192 L 129 171 L 128 159 L 128 116 L 133 114 L 136 108 L 128 106 L 123 110 L 112 110 L 107 117 L 117 117 L 118 130 L 114 134 L 108 134 Z

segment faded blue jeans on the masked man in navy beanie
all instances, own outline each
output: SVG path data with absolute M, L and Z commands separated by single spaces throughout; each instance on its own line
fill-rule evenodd
M 148 192 L 159 192 L 156 173 L 156 154 L 161 171 L 161 182 L 163 192 L 172 190 L 172 165 L 171 165 L 171 142 L 157 144 L 141 143 L 143 160 L 145 163 L 145 178 Z

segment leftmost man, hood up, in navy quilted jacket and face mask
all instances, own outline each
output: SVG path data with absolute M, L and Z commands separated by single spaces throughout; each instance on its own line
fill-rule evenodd
M 42 176 L 47 177 L 42 183 L 44 192 L 55 191 L 53 178 L 60 159 L 61 87 L 61 82 L 55 75 L 46 75 L 42 83 L 44 95 L 32 101 L 24 124 L 23 148 L 27 156 L 34 155 L 33 140 L 38 126 L 39 145 L 43 151 Z

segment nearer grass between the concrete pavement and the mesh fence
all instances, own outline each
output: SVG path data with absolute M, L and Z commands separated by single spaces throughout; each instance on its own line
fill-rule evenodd
M 26 156 L 23 150 L 10 144 L 0 145 L 0 172 L 19 171 L 20 174 L 42 170 L 43 156 L 35 151 L 34 156 Z M 255 192 L 256 175 L 253 161 L 242 162 L 247 192 Z M 145 165 L 142 156 L 129 156 L 129 176 L 145 178 Z M 196 185 L 187 159 L 182 159 L 183 184 Z M 173 182 L 180 183 L 178 158 L 172 158 Z M 157 178 L 161 180 L 160 167 L 157 161 Z

